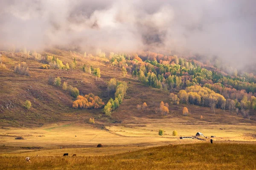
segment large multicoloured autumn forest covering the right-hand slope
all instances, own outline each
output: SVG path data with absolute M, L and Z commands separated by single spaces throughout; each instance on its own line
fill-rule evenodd
M 212 109 L 216 106 L 217 108 L 233 110 L 235 102 L 236 107 L 241 110 L 243 108 L 241 107 L 241 100 L 244 96 L 247 96 L 247 103 L 251 102 L 251 96 L 255 96 L 256 76 L 253 74 L 239 75 L 234 70 L 234 76 L 231 76 L 210 65 L 203 65 L 198 61 L 181 59 L 177 56 L 164 56 L 149 51 L 131 56 L 112 53 L 110 54 L 110 64 L 126 68 L 128 72 L 132 72 L 132 76 L 136 80 L 149 87 L 174 91 L 174 89 L 180 90 L 201 85 L 217 93 L 209 96 L 206 101 L 204 96 L 202 97 L 194 91 L 187 92 L 189 93 L 188 99 L 171 94 L 172 104 L 189 102 L 195 105 L 209 106 Z M 184 94 L 181 93 L 180 95 Z M 179 101 L 180 99 L 182 101 Z M 252 103 L 250 108 L 254 108 Z

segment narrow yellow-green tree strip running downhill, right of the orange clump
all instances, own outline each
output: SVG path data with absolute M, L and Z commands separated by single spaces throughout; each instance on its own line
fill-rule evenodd
M 122 103 L 122 100 L 124 99 L 124 96 L 126 95 L 127 88 L 128 86 L 126 82 L 116 82 L 116 79 L 114 78 L 110 80 L 108 83 L 108 90 L 112 93 L 115 91 L 115 99 L 113 100 L 111 98 L 105 105 L 103 113 L 105 113 L 106 116 L 111 116 L 111 111 L 119 107 L 119 105 Z

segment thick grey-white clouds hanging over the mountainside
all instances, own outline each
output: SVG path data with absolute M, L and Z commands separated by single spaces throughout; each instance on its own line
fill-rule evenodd
M 256 61 L 256 0 L 1 0 L 0 48 L 166 51 Z

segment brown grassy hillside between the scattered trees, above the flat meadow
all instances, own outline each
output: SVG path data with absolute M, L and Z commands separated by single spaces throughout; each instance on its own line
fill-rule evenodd
M 134 78 L 130 75 L 131 70 L 130 74 L 128 72 L 123 77 L 122 68 L 111 66 L 112 64 L 110 65 L 108 60 L 107 62 L 100 62 L 101 59 L 99 57 L 84 57 L 76 52 L 52 48 L 42 52 L 41 55 L 54 56 L 63 63 L 72 63 L 73 59 L 76 58 L 77 66 L 75 69 L 68 70 L 42 69 L 41 65 L 43 63 L 33 59 L 30 55 L 24 56 L 23 53 L 7 51 L 1 51 L 0 53 L 2 54 L 2 62 L 6 66 L 6 68 L 0 68 L 0 121 L 3 126 L 26 127 L 41 126 L 50 122 L 87 122 L 89 117 L 94 117 L 98 124 L 130 122 L 132 121 L 132 116 L 150 119 L 180 118 L 192 122 L 197 122 L 200 116 L 203 116 L 204 121 L 207 122 L 234 124 L 252 123 L 255 120 L 255 111 L 252 109 L 250 110 L 250 120 L 248 120 L 244 119 L 240 114 L 236 115 L 235 112 L 221 109 L 215 109 L 215 114 L 213 114 L 211 109 L 207 107 L 190 104 L 171 105 L 172 99 L 169 97 L 169 90 L 145 86 L 143 82 L 138 82 L 136 77 Z M 138 56 L 137 59 L 141 60 Z M 30 76 L 14 73 L 15 65 L 21 62 L 26 62 L 28 65 Z M 120 60 L 116 62 L 120 62 Z M 96 80 L 96 76 L 82 71 L 84 64 L 87 68 L 90 68 L 90 66 L 100 68 L 101 78 Z M 128 68 L 127 70 L 129 71 Z M 113 98 L 113 94 L 108 96 L 107 92 L 108 82 L 111 78 L 127 82 L 128 91 L 122 105 L 113 111 L 111 118 L 108 118 L 104 116 L 100 108 L 73 109 L 72 102 L 75 98 L 70 96 L 67 91 L 62 90 L 61 87 L 49 84 L 49 76 L 60 77 L 61 85 L 66 81 L 68 85 L 78 88 L 80 95 L 93 93 L 102 98 L 105 104 L 110 97 Z M 171 89 L 171 91 L 179 92 L 177 87 L 173 90 Z M 32 108 L 29 110 L 23 107 L 26 100 L 32 103 Z M 169 114 L 167 116 L 163 116 L 158 110 L 161 101 L 169 103 Z M 143 102 L 148 105 L 146 111 L 136 108 L 138 104 L 142 105 Z M 191 116 L 184 117 L 182 115 L 184 106 L 189 108 Z M 99 115 L 103 115 L 103 117 Z

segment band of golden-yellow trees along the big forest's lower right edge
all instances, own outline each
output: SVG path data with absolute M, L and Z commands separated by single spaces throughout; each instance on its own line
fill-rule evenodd
M 256 109 L 256 97 L 251 96 L 247 99 L 247 95 L 244 95 L 241 101 L 237 99 L 225 99 L 221 94 L 215 93 L 215 91 L 201 87 L 200 85 L 187 87 L 185 90 L 180 90 L 178 94 L 171 93 L 171 104 L 178 105 L 181 103 L 190 103 L 192 105 L 200 105 L 203 107 L 209 107 L 215 113 L 215 108 L 221 108 L 222 110 L 228 109 L 238 113 L 240 110 L 245 118 L 250 118 L 249 109 Z M 183 109 L 183 114 L 188 115 L 187 108 Z

